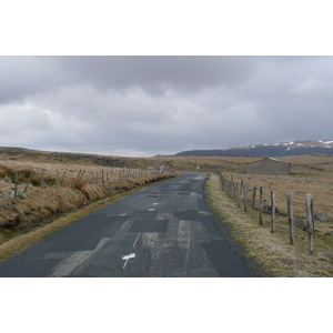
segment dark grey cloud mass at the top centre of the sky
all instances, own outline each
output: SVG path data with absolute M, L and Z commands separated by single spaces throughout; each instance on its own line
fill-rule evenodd
M 74 81 L 112 89 L 141 87 L 154 93 L 233 85 L 254 70 L 254 61 L 243 57 L 61 57 L 58 61 Z

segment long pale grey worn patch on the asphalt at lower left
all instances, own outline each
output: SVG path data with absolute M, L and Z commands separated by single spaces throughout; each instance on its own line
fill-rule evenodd
M 91 255 L 98 252 L 102 246 L 104 246 L 110 238 L 102 239 L 98 245 L 91 251 L 78 251 L 73 253 L 70 258 L 62 260 L 58 265 L 53 268 L 52 278 L 60 278 L 70 274 L 77 266 L 82 262 L 88 260 Z

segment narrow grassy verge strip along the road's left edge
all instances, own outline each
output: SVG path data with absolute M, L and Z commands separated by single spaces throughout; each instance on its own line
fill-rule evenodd
M 143 185 L 143 186 L 137 188 L 131 191 L 113 194 L 109 198 L 105 198 L 105 199 L 99 200 L 94 203 L 91 203 L 85 208 L 79 209 L 75 212 L 64 213 L 59 219 L 57 219 L 57 220 L 52 221 L 51 223 L 48 223 L 47 225 L 43 225 L 37 230 L 33 230 L 26 234 L 17 235 L 17 236 L 12 238 L 11 240 L 9 240 L 0 245 L 0 261 L 10 259 L 16 253 L 39 242 L 40 240 L 42 240 L 47 235 L 51 234 L 52 232 L 56 232 L 80 219 L 83 219 L 84 216 L 89 215 L 93 211 L 101 209 L 101 208 L 110 204 L 111 202 L 120 200 L 123 196 L 127 196 L 131 193 L 140 191 L 147 186 L 148 185 Z

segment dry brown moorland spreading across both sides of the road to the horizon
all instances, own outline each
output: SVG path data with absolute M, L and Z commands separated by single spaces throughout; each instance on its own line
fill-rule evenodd
M 168 170 L 175 172 L 210 172 L 211 175 L 214 170 L 219 170 L 225 176 L 232 176 L 236 182 L 243 181 L 250 186 L 263 186 L 268 203 L 270 191 L 275 190 L 276 206 L 283 211 L 286 211 L 286 193 L 292 192 L 296 218 L 304 218 L 304 195 L 312 193 L 314 211 L 321 210 L 327 216 L 325 222 L 315 222 L 315 238 L 323 239 L 325 253 L 333 253 L 333 236 L 326 235 L 333 230 L 333 155 L 311 154 L 276 158 L 291 163 L 291 174 L 245 174 L 246 163 L 260 159 L 243 157 L 121 158 L 2 148 L 0 149 L 0 202 L 10 204 L 13 210 L 0 206 L 0 244 L 17 236 L 20 230 L 22 233 L 27 232 L 27 228 L 31 230 L 43 225 L 40 221 L 46 221 L 49 216 L 78 210 L 84 203 L 89 204 L 115 193 L 130 191 L 152 181 L 174 176 L 168 172 L 163 174 L 148 172 L 149 167 L 165 165 Z M 6 194 L 13 191 L 16 173 L 19 175 L 18 192 L 24 191 L 31 170 L 33 170 L 34 179 L 30 180 L 26 192 L 27 198 L 4 198 Z M 42 170 L 44 170 L 43 189 L 40 183 Z M 83 170 L 84 174 L 82 175 Z M 57 174 L 58 186 L 56 185 Z M 8 175 L 12 182 L 3 180 Z M 216 179 L 213 180 L 218 182 Z M 87 184 L 82 189 L 84 181 Z M 214 186 L 218 191 L 219 184 L 216 183 Z M 223 194 L 219 198 L 224 203 L 228 200 Z M 228 203 L 228 206 L 229 214 L 231 211 L 236 214 L 238 208 L 231 203 Z M 252 218 L 253 214 L 255 215 L 256 212 L 252 212 Z M 20 215 L 20 223 L 17 224 L 18 215 Z M 268 216 L 265 219 L 269 221 Z M 278 224 L 281 222 L 286 225 L 285 216 L 276 216 L 276 219 Z M 302 239 L 306 242 L 306 232 L 301 232 Z M 244 243 L 244 241 L 242 242 Z M 287 238 L 285 238 L 285 242 L 287 243 Z M 331 261 L 332 258 L 327 259 L 326 256 L 323 260 L 332 265 Z M 324 270 L 322 276 L 325 274 L 332 275 L 331 272 L 327 273 Z

